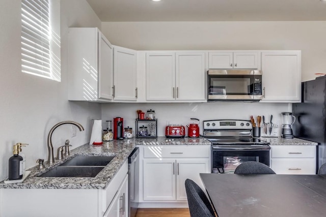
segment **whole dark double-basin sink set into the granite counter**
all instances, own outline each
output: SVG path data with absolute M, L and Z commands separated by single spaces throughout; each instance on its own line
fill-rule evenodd
M 95 177 L 115 156 L 76 156 L 39 177 Z

